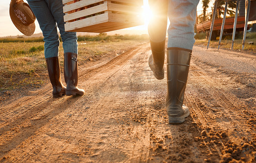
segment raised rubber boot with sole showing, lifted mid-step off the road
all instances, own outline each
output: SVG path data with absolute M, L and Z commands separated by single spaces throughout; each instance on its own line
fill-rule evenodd
M 148 66 L 154 73 L 155 78 L 161 80 L 165 77 L 164 61 L 165 61 L 165 41 L 150 41 L 152 54 L 148 59 Z

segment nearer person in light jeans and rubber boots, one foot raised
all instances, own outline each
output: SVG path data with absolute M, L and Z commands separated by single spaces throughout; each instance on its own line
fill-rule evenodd
M 189 116 L 183 104 L 188 80 L 190 59 L 199 0 L 149 0 L 153 18 L 148 25 L 152 55 L 148 65 L 155 78 L 164 79 L 165 40 L 167 16 L 170 20 L 167 43 L 167 96 L 168 123 L 182 123 Z

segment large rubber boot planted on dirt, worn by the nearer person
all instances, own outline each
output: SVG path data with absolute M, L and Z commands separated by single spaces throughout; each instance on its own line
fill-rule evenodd
M 169 123 L 182 123 L 189 116 L 189 108 L 183 105 L 188 80 L 191 52 L 189 49 L 167 49 L 166 109 Z

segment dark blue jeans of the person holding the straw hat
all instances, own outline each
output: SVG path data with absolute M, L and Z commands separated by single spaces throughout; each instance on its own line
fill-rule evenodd
M 34 12 L 45 41 L 45 58 L 58 57 L 59 35 L 63 41 L 64 53 L 78 53 L 76 32 L 65 32 L 62 0 L 27 0 Z

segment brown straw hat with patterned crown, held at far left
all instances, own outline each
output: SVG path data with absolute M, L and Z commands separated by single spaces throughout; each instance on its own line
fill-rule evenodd
M 15 27 L 27 36 L 35 32 L 35 15 L 23 0 L 11 0 L 10 17 Z

